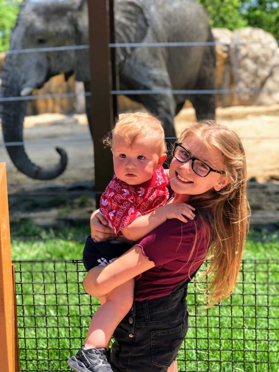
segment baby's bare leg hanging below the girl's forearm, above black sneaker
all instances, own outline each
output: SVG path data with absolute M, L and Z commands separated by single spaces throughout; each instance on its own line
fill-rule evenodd
M 95 312 L 89 326 L 84 347 L 106 347 L 115 328 L 131 309 L 134 300 L 135 280 L 116 287 L 100 299 L 101 306 Z

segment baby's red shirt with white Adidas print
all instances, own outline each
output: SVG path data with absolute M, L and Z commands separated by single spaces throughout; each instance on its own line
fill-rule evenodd
M 163 167 L 140 185 L 128 185 L 113 176 L 100 199 L 100 212 L 108 220 L 117 236 L 136 218 L 166 204 L 169 198 L 168 177 Z

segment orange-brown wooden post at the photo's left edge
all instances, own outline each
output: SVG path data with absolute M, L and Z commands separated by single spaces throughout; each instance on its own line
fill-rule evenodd
M 5 372 L 16 371 L 13 286 L 6 164 L 0 163 L 0 360 Z

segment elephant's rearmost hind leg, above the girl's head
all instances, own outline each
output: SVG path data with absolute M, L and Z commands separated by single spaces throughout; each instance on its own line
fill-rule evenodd
M 214 41 L 210 33 L 208 41 Z M 193 89 L 215 89 L 216 54 L 215 47 L 205 47 L 198 80 Z M 197 120 L 215 119 L 215 94 L 195 94 L 190 97 L 195 110 Z

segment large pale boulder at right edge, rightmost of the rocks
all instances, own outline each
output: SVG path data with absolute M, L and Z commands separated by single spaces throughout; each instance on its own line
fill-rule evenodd
M 272 70 L 270 61 L 278 50 L 273 35 L 259 28 L 247 27 L 233 33 L 232 43 L 234 44 L 231 44 L 229 55 L 235 90 L 263 89 Z M 234 104 L 253 105 L 258 102 L 259 95 L 260 93 L 237 93 Z

